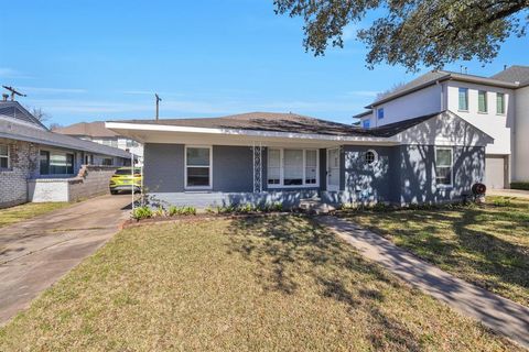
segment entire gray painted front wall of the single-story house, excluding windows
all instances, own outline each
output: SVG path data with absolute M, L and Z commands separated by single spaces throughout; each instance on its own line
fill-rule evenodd
M 367 165 L 365 153 L 375 150 L 378 160 Z M 163 204 L 209 205 L 282 201 L 291 207 L 300 199 L 321 196 L 330 204 L 343 202 L 444 202 L 460 200 L 472 185 L 483 182 L 484 147 L 454 147 L 454 186 L 435 185 L 433 145 L 360 146 L 341 148 L 341 190 L 326 191 L 326 150 L 320 150 L 320 187 L 268 189 L 267 150 L 262 153 L 263 193 L 252 194 L 253 165 L 250 146 L 213 146 L 213 191 L 184 193 L 184 145 L 147 144 L 144 185 Z

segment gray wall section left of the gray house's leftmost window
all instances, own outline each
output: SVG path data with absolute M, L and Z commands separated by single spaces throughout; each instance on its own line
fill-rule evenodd
M 184 191 L 183 144 L 145 144 L 143 186 L 148 193 Z

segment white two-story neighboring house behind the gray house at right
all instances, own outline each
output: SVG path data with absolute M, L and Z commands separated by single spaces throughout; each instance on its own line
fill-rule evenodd
M 529 180 L 529 67 L 511 66 L 492 77 L 433 70 L 399 87 L 354 118 L 384 127 L 450 110 L 494 138 L 486 147 L 486 184 L 508 188 Z

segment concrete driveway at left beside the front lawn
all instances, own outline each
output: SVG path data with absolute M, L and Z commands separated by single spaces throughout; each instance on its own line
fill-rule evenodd
M 110 239 L 130 202 L 101 196 L 0 228 L 0 324 Z

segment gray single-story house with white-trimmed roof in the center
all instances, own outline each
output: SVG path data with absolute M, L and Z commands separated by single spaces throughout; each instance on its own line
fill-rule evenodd
M 451 111 L 369 130 L 266 112 L 106 125 L 144 144 L 151 197 L 196 207 L 457 201 L 484 182 L 493 142 Z

